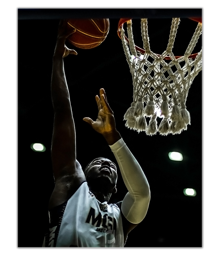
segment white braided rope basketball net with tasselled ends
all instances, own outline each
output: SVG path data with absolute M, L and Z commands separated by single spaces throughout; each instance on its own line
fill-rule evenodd
M 172 53 L 179 18 L 173 18 L 167 49 L 160 56 L 150 50 L 147 19 L 141 19 L 141 35 L 145 54 L 136 51 L 132 35 L 132 21 L 127 22 L 128 42 L 120 28 L 124 52 L 132 73 L 133 102 L 124 115 L 125 126 L 145 131 L 147 135 L 177 134 L 187 129 L 190 114 L 186 110 L 186 97 L 195 76 L 202 69 L 202 50 L 196 58 L 189 59 L 199 36 L 202 24 L 198 23 L 184 56 L 176 59 Z M 131 52 L 131 53 L 130 53 Z M 171 60 L 164 58 L 169 56 Z M 160 111 L 163 120 L 157 127 L 156 117 Z M 147 125 L 146 117 L 150 116 Z

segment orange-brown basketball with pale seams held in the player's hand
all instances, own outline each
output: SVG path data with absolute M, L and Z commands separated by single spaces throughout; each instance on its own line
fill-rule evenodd
M 91 49 L 100 45 L 108 35 L 109 19 L 69 19 L 68 25 L 76 32 L 67 39 L 82 49 Z

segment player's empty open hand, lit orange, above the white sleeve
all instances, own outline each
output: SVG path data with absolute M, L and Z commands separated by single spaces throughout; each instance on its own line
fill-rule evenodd
M 100 89 L 100 97 L 96 95 L 96 102 L 99 111 L 96 121 L 93 121 L 89 117 L 84 117 L 83 120 L 89 123 L 94 130 L 102 135 L 114 132 L 116 130 L 114 113 L 109 107 L 106 93 L 103 88 Z

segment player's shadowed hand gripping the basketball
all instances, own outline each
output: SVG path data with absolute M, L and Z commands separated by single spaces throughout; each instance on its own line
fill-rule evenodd
M 54 51 L 54 56 L 65 58 L 69 54 L 77 55 L 75 50 L 69 49 L 65 45 L 65 40 L 68 36 L 75 33 L 76 30 L 69 29 L 67 26 L 67 20 L 61 20 L 58 26 L 58 35 L 56 40 L 56 48 Z

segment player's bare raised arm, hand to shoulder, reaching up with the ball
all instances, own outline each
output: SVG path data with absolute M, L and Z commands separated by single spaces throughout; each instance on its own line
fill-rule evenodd
M 54 109 L 51 156 L 56 183 L 50 200 L 51 207 L 69 199 L 74 189 L 85 180 L 82 168 L 76 160 L 75 126 L 63 63 L 63 58 L 67 55 L 77 54 L 65 45 L 66 38 L 72 33 L 74 33 L 73 30 L 66 29 L 66 21 L 61 21 L 53 55 L 51 78 Z

